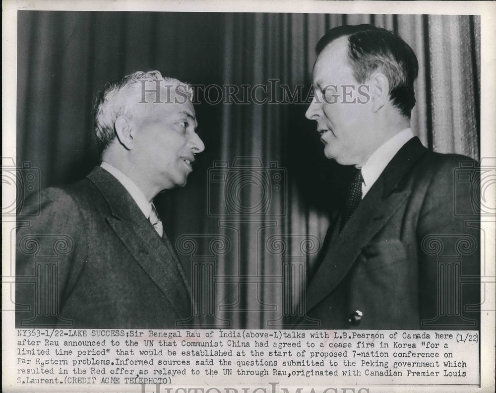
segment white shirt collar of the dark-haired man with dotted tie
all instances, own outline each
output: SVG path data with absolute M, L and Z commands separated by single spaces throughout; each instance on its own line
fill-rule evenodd
M 412 130 L 407 128 L 388 139 L 372 153 L 362 167 L 362 176 L 364 178 L 362 183 L 362 199 L 377 181 L 382 171 L 386 168 L 387 164 L 389 164 L 389 161 L 392 160 L 399 149 L 412 139 L 413 136 Z

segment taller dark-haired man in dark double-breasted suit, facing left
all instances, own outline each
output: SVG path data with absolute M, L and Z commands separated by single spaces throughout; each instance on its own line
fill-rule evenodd
M 454 209 L 477 211 L 454 181 L 476 163 L 429 151 L 410 130 L 414 52 L 371 25 L 334 28 L 316 52 L 306 117 L 325 156 L 356 175 L 331 217 L 307 316 L 323 328 L 479 328 L 478 219 Z

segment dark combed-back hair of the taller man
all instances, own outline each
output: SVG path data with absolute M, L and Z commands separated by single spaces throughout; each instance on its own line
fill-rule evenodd
M 415 106 L 413 83 L 419 73 L 419 62 L 412 48 L 392 31 L 361 24 L 329 30 L 317 43 L 317 56 L 340 37 L 348 37 L 348 56 L 355 79 L 364 83 L 374 71 L 380 70 L 389 82 L 392 104 L 410 118 Z

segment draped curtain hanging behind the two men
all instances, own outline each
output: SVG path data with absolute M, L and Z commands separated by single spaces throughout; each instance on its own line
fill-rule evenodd
M 276 86 L 275 102 L 198 96 L 206 149 L 187 186 L 155 203 L 204 327 L 280 327 L 302 313 L 305 271 L 349 174 L 325 159 L 304 117 L 315 44 L 358 23 L 396 32 L 416 53 L 413 132 L 435 151 L 479 159 L 479 16 L 19 11 L 17 165 L 38 168 L 42 188 L 83 178 L 98 164 L 92 95 L 135 70 Z M 280 102 L 297 86 L 301 100 Z

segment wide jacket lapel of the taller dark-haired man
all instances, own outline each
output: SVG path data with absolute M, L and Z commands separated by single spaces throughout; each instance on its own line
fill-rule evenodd
M 372 237 L 410 195 L 402 180 L 413 164 L 427 151 L 417 137 L 410 139 L 393 157 L 352 217 L 338 233 L 333 224 L 333 240 L 307 291 L 307 310 L 329 295 L 351 269 Z

